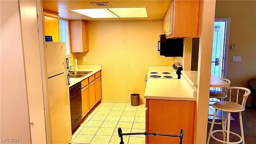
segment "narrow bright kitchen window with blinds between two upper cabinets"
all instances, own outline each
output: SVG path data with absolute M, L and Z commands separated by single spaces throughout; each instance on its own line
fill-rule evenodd
M 70 56 L 68 20 L 60 19 L 60 42 L 66 42 L 66 54 Z

